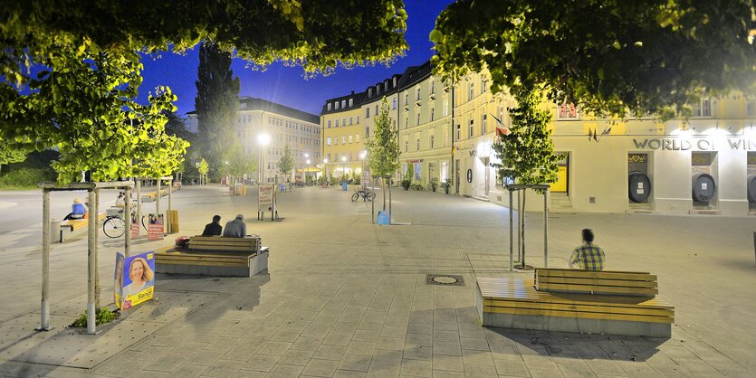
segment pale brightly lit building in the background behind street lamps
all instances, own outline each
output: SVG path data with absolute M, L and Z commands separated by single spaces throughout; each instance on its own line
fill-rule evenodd
M 196 128 L 196 112 L 189 112 L 187 116 L 190 127 Z M 294 169 L 289 180 L 300 181 L 303 173 L 308 168 L 312 171 L 312 167 L 321 160 L 320 118 L 314 114 L 265 99 L 241 97 L 234 131 L 244 153 L 250 158 L 258 158 L 258 181 L 275 181 L 279 174 L 278 162 L 286 146 L 289 146 L 294 158 Z M 260 136 L 267 136 L 267 145 L 261 145 Z

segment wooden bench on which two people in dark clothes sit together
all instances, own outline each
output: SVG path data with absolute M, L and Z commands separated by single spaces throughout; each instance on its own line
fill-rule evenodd
M 260 246 L 257 236 L 192 236 L 187 249 L 155 250 L 155 269 L 158 273 L 252 277 L 268 269 L 268 256 L 269 248 Z

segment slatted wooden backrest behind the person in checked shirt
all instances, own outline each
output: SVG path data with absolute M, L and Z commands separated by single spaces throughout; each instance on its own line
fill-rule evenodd
M 535 269 L 535 288 L 550 292 L 633 297 L 654 297 L 659 293 L 655 275 L 617 270 Z

